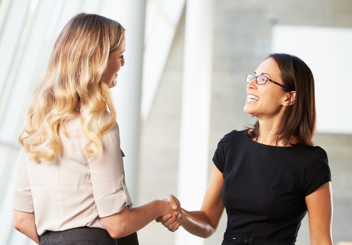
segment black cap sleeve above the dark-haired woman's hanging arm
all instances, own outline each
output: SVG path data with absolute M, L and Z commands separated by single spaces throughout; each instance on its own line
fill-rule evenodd
M 312 152 L 307 164 L 304 178 L 304 196 L 308 196 L 323 184 L 331 181 L 328 157 L 322 148 Z

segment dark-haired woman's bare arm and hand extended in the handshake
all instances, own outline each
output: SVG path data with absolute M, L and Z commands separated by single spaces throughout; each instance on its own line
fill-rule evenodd
M 222 185 L 224 180 L 222 173 L 213 165 L 212 176 L 205 193 L 200 211 L 186 211 L 180 207 L 180 202 L 176 197 L 168 196 L 170 206 L 176 205 L 179 215 L 172 214 L 172 218 L 160 217 L 157 222 L 163 222 L 170 231 L 176 231 L 180 225 L 189 233 L 198 237 L 210 237 L 219 225 L 219 221 L 224 211 L 222 203 Z

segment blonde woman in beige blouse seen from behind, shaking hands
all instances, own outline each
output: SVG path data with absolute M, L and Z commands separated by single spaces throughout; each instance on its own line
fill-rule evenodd
M 13 222 L 38 244 L 117 244 L 173 212 L 165 200 L 131 208 L 109 92 L 124 51 L 117 21 L 77 14 L 34 89 L 19 137 Z

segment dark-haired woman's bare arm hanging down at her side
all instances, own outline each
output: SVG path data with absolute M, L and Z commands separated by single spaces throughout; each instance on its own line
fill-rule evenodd
M 331 182 L 323 184 L 306 196 L 311 245 L 332 245 L 332 191 Z

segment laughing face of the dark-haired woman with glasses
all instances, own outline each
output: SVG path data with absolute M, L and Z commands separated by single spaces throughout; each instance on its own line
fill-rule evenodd
M 263 61 L 253 74 L 265 75 L 283 84 L 281 71 L 273 58 Z M 247 100 L 243 109 L 258 119 L 281 119 L 288 103 L 288 95 L 281 86 L 269 80 L 265 84 L 257 84 L 256 79 L 253 79 L 247 84 Z

